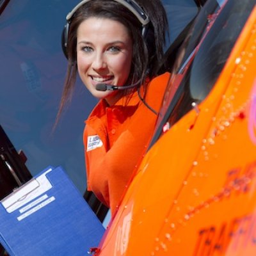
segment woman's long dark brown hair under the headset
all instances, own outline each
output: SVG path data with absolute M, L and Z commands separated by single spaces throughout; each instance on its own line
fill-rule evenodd
M 141 81 L 144 83 L 146 77 L 152 78 L 156 74 L 154 68 L 158 67 L 163 57 L 163 47 L 165 44 L 168 21 L 164 7 L 160 0 L 138 0 L 137 3 L 147 13 L 150 24 L 145 38 L 141 35 L 141 23 L 125 6 L 111 0 L 93 0 L 83 4 L 72 16 L 68 31 L 67 58 L 68 67 L 65 78 L 60 108 L 57 115 L 57 122 L 60 118 L 68 99 L 71 99 L 76 83 L 77 63 L 76 44 L 77 28 L 84 20 L 90 17 L 116 20 L 127 28 L 133 42 L 133 56 L 131 72 L 127 84 Z

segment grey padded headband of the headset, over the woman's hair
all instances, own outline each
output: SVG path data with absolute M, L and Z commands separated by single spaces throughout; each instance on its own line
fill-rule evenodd
M 72 18 L 76 10 L 81 7 L 83 4 L 90 2 L 92 0 L 83 0 L 77 6 L 74 7 L 74 9 L 68 13 L 66 19 L 67 21 Z M 140 20 L 141 24 L 143 26 L 146 26 L 149 23 L 149 18 L 147 14 L 142 10 L 142 8 L 134 1 L 134 0 L 113 0 L 115 2 L 118 2 L 122 5 L 124 5 L 127 9 L 129 9 L 136 17 L 138 20 Z

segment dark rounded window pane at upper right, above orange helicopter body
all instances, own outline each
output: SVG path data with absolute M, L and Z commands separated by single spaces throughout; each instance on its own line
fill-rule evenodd
M 205 99 L 218 79 L 255 4 L 255 1 L 234 2 L 227 3 L 193 61 L 189 89 L 192 99 L 198 102 Z

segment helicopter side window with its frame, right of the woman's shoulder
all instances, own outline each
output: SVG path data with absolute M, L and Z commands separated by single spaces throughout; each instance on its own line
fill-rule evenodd
M 207 13 L 214 8 L 210 4 L 212 1 L 205 4 L 204 12 L 196 19 L 193 31 L 177 56 L 151 145 L 163 134 L 166 124 L 170 129 L 211 92 L 255 1 L 228 1 L 224 3 L 223 10 L 216 2 L 214 12 Z M 207 35 L 200 42 L 205 32 Z

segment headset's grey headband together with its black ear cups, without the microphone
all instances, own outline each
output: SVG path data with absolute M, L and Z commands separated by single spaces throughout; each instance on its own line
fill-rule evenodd
M 66 24 L 63 29 L 62 36 L 61 36 L 61 46 L 62 46 L 62 50 L 63 50 L 66 58 L 68 58 L 68 56 L 67 56 L 68 30 L 70 27 L 70 23 L 72 22 L 72 17 L 74 15 L 74 13 L 77 11 L 77 9 L 79 9 L 81 6 L 83 6 L 83 4 L 86 4 L 90 1 L 93 1 L 93 0 L 81 1 L 79 4 L 77 4 L 72 9 L 71 12 L 69 12 L 67 14 Z M 150 19 L 149 19 L 148 15 L 140 7 L 140 5 L 138 3 L 136 3 L 134 0 L 113 0 L 113 1 L 122 4 L 136 16 L 136 18 L 140 21 L 141 26 L 142 26 L 141 35 L 143 36 L 143 38 L 146 38 Z

